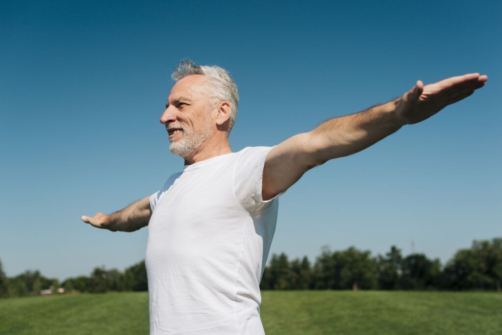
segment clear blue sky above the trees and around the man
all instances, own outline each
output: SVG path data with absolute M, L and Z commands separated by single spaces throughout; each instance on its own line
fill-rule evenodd
M 391 245 L 448 260 L 502 236 L 500 2 L 9 2 L 0 12 L 0 259 L 8 276 L 123 270 L 147 229 L 112 212 L 182 168 L 159 123 L 184 57 L 229 70 L 233 151 L 272 146 L 469 72 L 485 87 L 422 124 L 309 171 L 281 198 L 271 253 Z

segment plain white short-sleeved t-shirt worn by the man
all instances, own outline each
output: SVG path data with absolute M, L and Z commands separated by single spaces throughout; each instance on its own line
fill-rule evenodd
M 262 200 L 270 147 L 185 166 L 150 197 L 151 334 L 264 334 L 260 281 L 278 199 Z

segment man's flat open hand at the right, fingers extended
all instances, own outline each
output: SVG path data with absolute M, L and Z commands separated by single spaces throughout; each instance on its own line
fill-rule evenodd
M 487 79 L 485 75 L 472 73 L 425 86 L 419 80 L 398 101 L 396 114 L 405 124 L 419 123 L 438 113 L 447 105 L 471 95 L 474 90 L 482 87 Z

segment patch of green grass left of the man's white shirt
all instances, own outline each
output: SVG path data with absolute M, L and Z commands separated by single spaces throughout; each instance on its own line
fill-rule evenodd
M 0 334 L 148 334 L 148 293 L 0 299 Z

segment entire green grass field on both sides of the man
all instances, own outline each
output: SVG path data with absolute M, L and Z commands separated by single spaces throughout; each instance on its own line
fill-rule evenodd
M 502 294 L 264 291 L 273 334 L 501 334 Z M 148 294 L 0 299 L 0 334 L 148 334 Z

